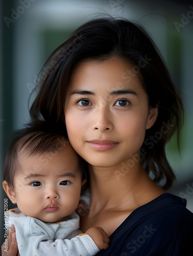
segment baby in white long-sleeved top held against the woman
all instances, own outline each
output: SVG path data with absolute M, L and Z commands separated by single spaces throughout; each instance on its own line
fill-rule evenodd
M 76 213 L 87 165 L 48 125 L 17 131 L 9 147 L 3 187 L 18 208 L 9 210 L 21 256 L 95 255 L 109 247 L 100 227 L 85 233 Z

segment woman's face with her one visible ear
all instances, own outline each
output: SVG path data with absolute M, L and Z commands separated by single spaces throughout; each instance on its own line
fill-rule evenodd
M 121 59 L 80 63 L 65 106 L 69 140 L 93 166 L 112 167 L 139 154 L 157 118 L 132 68 Z

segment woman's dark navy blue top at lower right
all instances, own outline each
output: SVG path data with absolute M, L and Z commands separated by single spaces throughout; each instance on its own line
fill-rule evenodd
M 134 210 L 111 234 L 105 256 L 193 255 L 193 213 L 169 193 Z

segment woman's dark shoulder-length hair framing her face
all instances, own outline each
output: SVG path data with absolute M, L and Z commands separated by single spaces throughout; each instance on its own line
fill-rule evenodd
M 141 26 L 108 17 L 92 20 L 75 30 L 41 69 L 40 90 L 31 106 L 31 117 L 63 125 L 66 91 L 75 66 L 83 60 L 103 61 L 111 57 L 122 58 L 130 65 L 148 95 L 149 106 L 159 109 L 157 121 L 146 131 L 141 161 L 154 181 L 168 189 L 175 175 L 167 161 L 165 145 L 176 131 L 179 145 L 184 110 L 157 47 Z

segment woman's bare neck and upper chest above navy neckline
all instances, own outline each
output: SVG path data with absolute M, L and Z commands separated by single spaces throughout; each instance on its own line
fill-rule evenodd
M 124 169 L 123 169 L 124 167 Z M 110 236 L 136 208 L 164 193 L 140 163 L 133 168 L 90 167 L 91 204 L 80 221 L 83 231 L 102 227 Z

